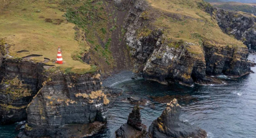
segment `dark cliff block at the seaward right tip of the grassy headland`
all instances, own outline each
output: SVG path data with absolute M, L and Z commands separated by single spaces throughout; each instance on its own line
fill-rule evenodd
M 204 43 L 206 74 L 218 75 L 221 73 L 239 77 L 250 72 L 248 49 L 241 47 L 215 47 Z

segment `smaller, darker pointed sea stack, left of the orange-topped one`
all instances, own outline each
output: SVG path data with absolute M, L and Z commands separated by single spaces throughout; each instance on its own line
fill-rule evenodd
M 147 134 L 147 126 L 141 123 L 139 104 L 133 107 L 127 123 L 116 130 L 116 138 L 142 138 Z

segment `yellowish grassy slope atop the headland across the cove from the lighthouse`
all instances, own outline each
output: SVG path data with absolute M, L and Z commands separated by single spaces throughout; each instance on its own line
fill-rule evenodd
M 154 9 L 150 13 L 159 12 L 156 21 L 152 26 L 164 29 L 167 39 L 185 40 L 193 42 L 198 46 L 190 47 L 192 53 L 201 54 L 202 41 L 208 41 L 215 46 L 235 46 L 246 47 L 241 41 L 236 40 L 233 36 L 224 34 L 218 27 L 217 22 L 209 14 L 202 11 L 197 2 L 201 0 L 147 0 Z M 173 15 L 170 16 L 172 13 Z M 169 15 L 169 16 L 168 16 Z

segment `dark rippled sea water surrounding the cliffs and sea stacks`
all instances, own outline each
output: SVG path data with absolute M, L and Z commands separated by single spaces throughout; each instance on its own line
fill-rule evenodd
M 249 59 L 253 58 L 256 56 L 250 55 Z M 256 72 L 256 67 L 251 69 Z M 124 75 L 128 78 L 131 76 L 128 72 Z M 124 92 L 108 106 L 106 129 L 91 138 L 115 137 L 115 131 L 126 123 L 134 106 L 124 100 L 130 96 L 148 101 L 146 105 L 141 105 L 141 117 L 142 123 L 149 127 L 166 106 L 151 97 L 165 95 L 187 95 L 194 98 L 188 102 L 178 101 L 182 106 L 180 120 L 189 121 L 206 130 L 208 138 L 256 138 L 256 73 L 240 78 L 219 77 L 225 81 L 225 85 L 166 86 L 144 79 L 122 81 L 127 78 L 112 78 L 105 84 Z M 0 138 L 13 138 L 18 133 L 14 128 L 15 125 L 0 126 Z

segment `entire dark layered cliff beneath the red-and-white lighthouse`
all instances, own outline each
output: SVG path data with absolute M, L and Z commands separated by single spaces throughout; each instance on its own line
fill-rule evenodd
M 5 50 L 1 45 L 0 122 L 27 119 L 18 137 L 85 137 L 105 126 L 109 100 L 100 74 L 64 73 Z

